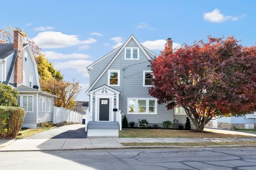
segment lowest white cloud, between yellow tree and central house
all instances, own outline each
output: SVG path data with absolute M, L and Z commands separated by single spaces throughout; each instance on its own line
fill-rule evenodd
M 86 67 L 92 64 L 90 60 L 69 60 L 66 62 L 54 63 L 54 67 L 57 70 L 63 69 L 75 69 L 78 73 L 82 73 L 84 77 L 89 77 Z

